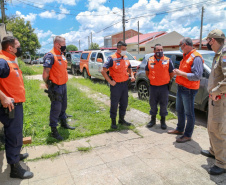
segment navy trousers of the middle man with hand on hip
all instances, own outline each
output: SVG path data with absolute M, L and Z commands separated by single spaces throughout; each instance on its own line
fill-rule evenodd
M 119 104 L 119 115 L 125 116 L 128 105 L 128 82 L 116 83 L 115 86 L 110 86 L 111 90 L 111 108 L 110 117 L 116 118 Z

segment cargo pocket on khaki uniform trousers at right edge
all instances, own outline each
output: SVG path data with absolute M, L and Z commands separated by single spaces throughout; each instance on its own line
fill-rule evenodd
M 221 100 L 213 101 L 213 121 L 223 123 L 225 107 Z M 226 106 L 226 105 L 225 105 Z

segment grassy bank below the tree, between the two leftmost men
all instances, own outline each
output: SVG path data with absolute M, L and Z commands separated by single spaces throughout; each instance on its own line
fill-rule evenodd
M 41 64 L 39 65 L 25 64 L 21 59 L 18 59 L 18 64 L 23 75 L 37 75 L 42 74 L 43 72 L 43 67 Z

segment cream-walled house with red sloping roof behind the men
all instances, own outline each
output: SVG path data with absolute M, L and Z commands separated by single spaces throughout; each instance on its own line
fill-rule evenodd
M 167 33 L 165 31 L 152 32 L 139 36 L 139 54 L 152 53 L 155 44 L 161 44 L 164 51 L 178 50 L 183 36 L 176 31 Z M 138 35 L 126 40 L 127 51 L 133 55 L 138 54 Z

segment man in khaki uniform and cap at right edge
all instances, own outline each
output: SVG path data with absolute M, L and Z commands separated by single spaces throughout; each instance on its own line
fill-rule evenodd
M 208 133 L 210 149 L 201 154 L 215 158 L 209 174 L 220 175 L 226 172 L 226 45 L 225 34 L 215 29 L 207 36 L 207 47 L 215 52 L 208 81 L 209 115 Z

